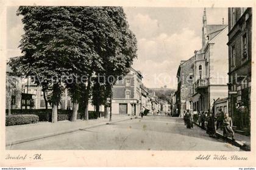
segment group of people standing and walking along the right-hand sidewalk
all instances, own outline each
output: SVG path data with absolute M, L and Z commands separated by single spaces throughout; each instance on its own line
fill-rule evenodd
M 197 114 L 197 113 L 194 113 Z M 191 129 L 193 128 L 193 113 L 189 112 L 189 110 L 185 110 L 183 114 L 183 119 L 185 126 Z M 213 113 L 208 110 L 208 112 L 199 112 L 197 115 L 199 126 L 202 129 L 206 129 L 206 133 L 210 135 L 210 137 L 214 137 L 216 134 L 216 130 L 223 130 L 224 137 L 232 137 L 234 136 L 234 132 L 232 129 L 232 118 L 229 117 L 229 114 L 222 112 L 222 109 L 219 108 L 218 113 L 213 115 Z M 216 129 L 215 129 L 215 121 L 216 121 Z M 205 126 L 205 124 L 207 124 Z

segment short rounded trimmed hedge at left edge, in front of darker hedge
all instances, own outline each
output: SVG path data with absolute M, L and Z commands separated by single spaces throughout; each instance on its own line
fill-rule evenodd
M 5 126 L 32 124 L 39 121 L 37 115 L 10 115 L 5 117 Z

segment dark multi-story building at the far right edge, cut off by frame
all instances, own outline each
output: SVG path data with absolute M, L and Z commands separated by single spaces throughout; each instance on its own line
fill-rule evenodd
M 243 113 L 238 121 L 248 127 L 250 121 L 246 122 L 246 119 L 251 117 L 252 8 L 229 8 L 228 36 L 229 115 L 234 118 L 238 104 L 247 107 L 247 113 Z

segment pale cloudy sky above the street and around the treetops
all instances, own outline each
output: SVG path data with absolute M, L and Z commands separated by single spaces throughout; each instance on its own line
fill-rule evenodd
M 7 9 L 7 58 L 21 55 L 24 34 L 18 7 Z M 177 87 L 180 60 L 201 49 L 204 8 L 124 7 L 129 28 L 138 41 L 132 67 L 141 71 L 148 88 Z M 207 8 L 207 24 L 227 24 L 226 8 Z

